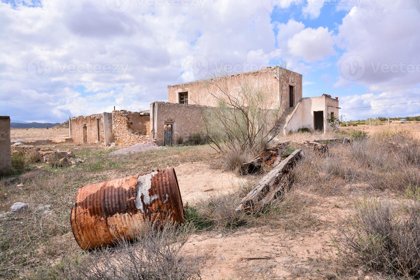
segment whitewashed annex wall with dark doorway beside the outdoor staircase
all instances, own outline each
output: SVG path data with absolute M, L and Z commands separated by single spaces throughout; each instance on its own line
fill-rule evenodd
M 324 111 L 324 132 L 331 129 L 327 118 L 334 112 L 336 118 L 339 117 L 339 101 L 330 97 L 305 97 L 298 105 L 296 112 L 292 115 L 289 123 L 286 124 L 285 133 L 297 130 L 302 127 L 314 129 L 314 111 Z

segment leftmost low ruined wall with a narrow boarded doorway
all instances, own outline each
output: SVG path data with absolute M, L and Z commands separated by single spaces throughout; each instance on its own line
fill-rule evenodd
M 99 130 L 98 130 L 98 119 L 99 119 Z M 70 119 L 71 123 L 71 138 L 74 143 L 83 143 L 83 130 L 82 126 L 87 126 L 87 143 L 95 143 L 98 141 L 104 141 L 103 132 L 103 114 L 95 114 L 87 117 L 79 116 Z M 101 133 L 102 131 L 102 133 Z

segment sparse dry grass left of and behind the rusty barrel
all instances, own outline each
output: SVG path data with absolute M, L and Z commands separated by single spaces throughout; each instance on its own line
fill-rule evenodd
M 169 147 L 127 156 L 113 156 L 98 147 L 78 147 L 74 152 L 84 159 L 83 165 L 53 168 L 38 163 L 31 166 L 43 171 L 38 178 L 0 179 L 0 211 L 9 211 L 16 201 L 29 204 L 26 211 L 0 219 L 1 278 L 27 277 L 38 268 L 46 269 L 80 253 L 70 227 L 70 210 L 79 187 L 183 162 L 212 160 L 215 155 L 208 146 Z M 19 184 L 23 186 L 16 186 Z M 53 212 L 44 214 L 41 207 L 47 204 Z

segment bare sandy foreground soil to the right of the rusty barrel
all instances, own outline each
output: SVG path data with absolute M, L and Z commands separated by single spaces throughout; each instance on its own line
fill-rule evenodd
M 337 234 L 339 218 L 349 215 L 353 203 L 337 196 L 311 196 L 318 201 L 308 209 L 314 213 L 315 223 L 311 228 L 292 232 L 250 228 L 223 233 L 221 237 L 218 232 L 192 236 L 186 250 L 206 258 L 202 278 L 306 279 L 309 274 L 313 276 L 318 266 L 322 267 L 335 255 L 331 235 Z

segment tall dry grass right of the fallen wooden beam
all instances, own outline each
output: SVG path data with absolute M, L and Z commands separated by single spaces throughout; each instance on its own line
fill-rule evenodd
M 307 147 L 294 168 L 296 184 L 318 194 L 339 194 L 345 186 L 366 183 L 370 188 L 405 193 L 420 186 L 420 140 L 410 131 L 384 129 L 351 146 L 331 147 L 326 155 Z

